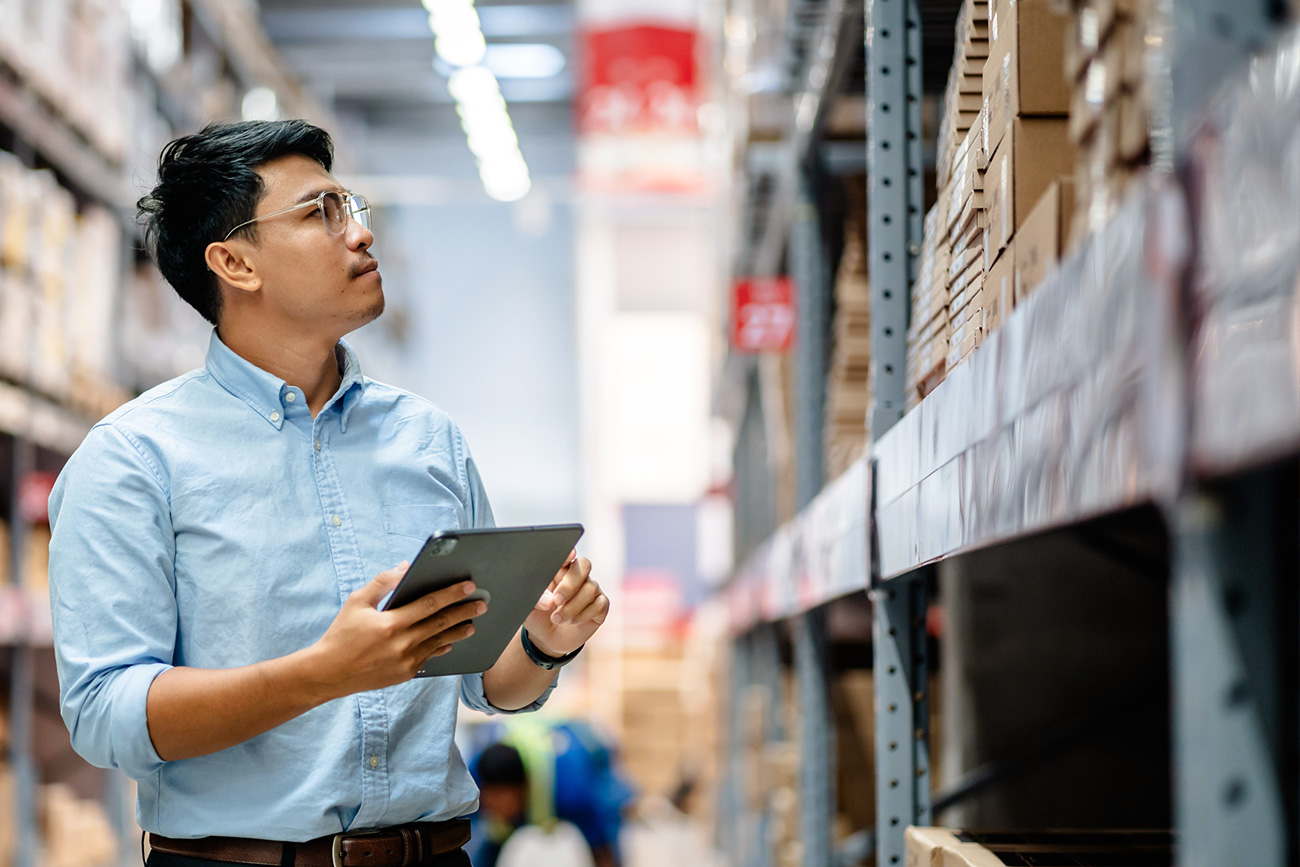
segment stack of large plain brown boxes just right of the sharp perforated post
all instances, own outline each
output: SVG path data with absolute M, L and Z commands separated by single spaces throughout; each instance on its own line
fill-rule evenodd
M 1015 248 L 1020 230 L 1045 192 L 1056 188 L 1060 200 L 1058 182 L 1075 170 L 1069 134 L 1071 88 L 1061 65 L 1069 23 L 1070 16 L 1052 0 L 992 0 L 989 5 L 984 291 L 997 299 L 991 328 L 1019 300 Z

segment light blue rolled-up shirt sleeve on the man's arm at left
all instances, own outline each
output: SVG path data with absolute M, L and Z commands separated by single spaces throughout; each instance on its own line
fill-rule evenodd
M 99 425 L 49 498 L 49 606 L 73 749 L 143 780 L 164 764 L 146 702 L 177 634 L 170 504 L 146 455 Z

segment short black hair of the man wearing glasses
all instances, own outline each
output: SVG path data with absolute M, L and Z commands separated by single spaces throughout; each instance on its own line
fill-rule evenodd
M 209 123 L 176 139 L 159 159 L 159 179 L 136 203 L 144 244 L 177 294 L 213 325 L 221 312 L 217 277 L 204 251 L 252 220 L 265 192 L 256 169 L 300 153 L 326 172 L 334 164 L 329 133 L 307 121 Z M 239 231 L 257 239 L 257 224 Z

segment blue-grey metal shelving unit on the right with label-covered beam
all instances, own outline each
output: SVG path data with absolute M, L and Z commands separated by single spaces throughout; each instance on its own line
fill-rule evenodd
M 937 6 L 872 0 L 864 10 L 875 365 L 864 421 L 875 442 L 766 542 L 742 550 L 748 558 L 727 589 L 737 694 L 755 684 L 780 694 L 771 645 L 774 636 L 792 638 L 794 690 L 806 697 L 801 749 L 815 760 L 802 780 L 802 863 L 859 863 L 874 853 L 874 863 L 901 864 L 906 825 L 932 824 L 1114 725 L 1109 744 L 1140 742 L 1147 753 L 1132 762 L 1135 790 L 1161 785 L 1171 802 L 1180 867 L 1294 863 L 1300 35 L 1275 4 L 1166 4 L 1167 104 L 1153 129 L 1153 172 L 905 415 L 904 334 L 926 168 L 914 112 L 933 91 L 923 48 L 928 56 L 932 30 L 946 34 L 956 18 L 954 6 Z M 948 51 L 936 53 L 946 62 Z M 801 244 L 798 233 L 788 243 Z M 801 387 L 810 385 L 800 380 Z M 757 463 L 749 456 L 746 465 Z M 737 490 L 746 485 L 738 480 Z M 1041 575 L 1020 572 L 1028 568 Z M 1048 623 L 1053 606 L 1087 604 L 1087 581 L 1100 576 L 1098 604 L 1123 612 L 1105 614 L 1121 658 L 1089 669 L 1114 682 L 1083 690 L 1095 702 L 1072 725 L 1031 732 L 993 758 L 983 750 L 987 760 L 949 768 L 940 786 L 931 779 L 928 672 L 937 660 L 928 601 L 992 575 L 1000 584 L 985 581 L 984 590 L 1043 604 Z M 836 848 L 835 775 L 822 772 L 836 762 L 820 701 L 824 624 L 828 606 L 863 593 L 874 616 L 876 823 Z M 1097 623 L 1109 620 L 1087 627 Z M 954 636 L 959 650 L 944 658 L 958 669 L 946 672 L 953 677 L 970 676 L 961 655 L 974 645 L 962 641 Z M 994 673 L 1019 676 L 997 647 L 989 656 L 1002 667 Z M 1070 681 L 1092 664 L 1070 659 L 1062 653 L 1043 666 Z M 732 723 L 744 718 L 733 712 Z M 763 815 L 746 811 L 738 793 L 754 771 L 734 728 L 731 744 L 723 833 L 734 833 L 732 823 L 753 836 Z M 1161 751 L 1171 766 L 1152 755 Z M 1052 805 L 1019 815 L 1052 815 Z M 1098 815 L 1108 814 L 1086 822 Z M 771 863 L 738 844 L 729 850 L 741 867 Z

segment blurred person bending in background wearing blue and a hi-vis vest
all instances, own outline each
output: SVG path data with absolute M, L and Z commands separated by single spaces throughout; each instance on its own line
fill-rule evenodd
M 482 793 L 473 816 L 474 867 L 506 867 L 497 858 L 519 828 L 556 822 L 581 832 L 597 867 L 621 866 L 619 836 L 633 792 L 590 724 L 511 720 L 486 727 L 486 740 L 493 742 L 471 762 Z

